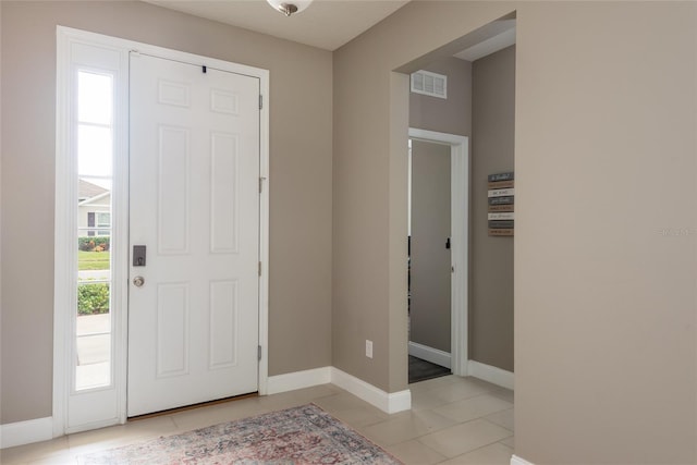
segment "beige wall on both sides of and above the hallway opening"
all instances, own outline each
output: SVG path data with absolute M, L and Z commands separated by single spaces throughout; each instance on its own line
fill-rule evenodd
M 406 383 L 408 79 L 391 72 L 514 9 L 515 453 L 695 463 L 692 2 L 412 2 L 334 53 L 334 365 Z M 390 352 L 365 359 L 368 334 Z

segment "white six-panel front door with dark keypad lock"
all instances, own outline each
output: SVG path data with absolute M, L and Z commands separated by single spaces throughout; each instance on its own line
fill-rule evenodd
M 131 57 L 129 416 L 257 391 L 259 91 Z

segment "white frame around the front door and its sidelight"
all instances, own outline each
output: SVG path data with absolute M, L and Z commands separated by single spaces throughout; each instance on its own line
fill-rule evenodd
M 66 111 L 69 99 L 72 96 L 70 86 L 71 50 L 73 46 L 88 45 L 98 48 L 117 51 L 125 57 L 125 75 L 127 75 L 127 57 L 131 51 L 184 61 L 208 68 L 244 74 L 259 78 L 260 101 L 262 106 L 259 115 L 259 176 L 262 187 L 259 195 L 259 261 L 261 272 L 259 277 L 259 345 L 261 356 L 258 365 L 258 390 L 260 394 L 268 391 L 268 320 L 269 320 L 269 71 L 253 66 L 236 64 L 219 59 L 201 57 L 181 52 L 162 47 L 140 44 L 132 40 L 105 36 L 101 34 L 58 26 L 57 27 L 57 122 L 56 122 L 56 268 L 54 268 L 54 308 L 53 308 L 53 437 L 69 432 L 100 428 L 108 425 L 123 424 L 126 421 L 126 372 L 127 372 L 127 216 L 129 216 L 129 189 L 127 189 L 127 159 L 121 159 L 115 164 L 115 173 L 121 174 L 115 180 L 113 199 L 114 211 L 112 218 L 114 228 L 121 232 L 121 242 L 126 244 L 120 247 L 113 261 L 121 265 L 122 270 L 114 266 L 113 299 L 115 313 L 112 334 L 115 339 L 114 353 L 114 380 L 117 390 L 115 418 L 68 428 L 68 400 L 72 393 L 71 344 L 74 326 L 74 301 L 71 291 L 76 285 L 76 271 L 74 266 L 66 266 L 76 254 L 76 241 L 74 240 L 76 198 L 76 166 L 70 151 L 70 112 Z M 127 83 L 125 83 L 127 88 Z M 121 108 L 118 120 L 122 123 L 122 130 L 117 135 L 117 145 L 125 142 L 127 147 L 127 93 L 125 98 L 117 97 L 117 108 Z M 119 110 L 117 110 L 119 112 Z M 125 122 L 125 124 L 123 124 Z M 127 152 L 127 151 L 126 151 Z M 125 174 L 124 174 L 125 173 Z M 117 224 L 119 223 L 119 224 Z M 117 238 L 118 240 L 118 238 Z M 124 242 L 125 241 L 125 242 Z M 126 277 L 126 278 L 124 278 Z

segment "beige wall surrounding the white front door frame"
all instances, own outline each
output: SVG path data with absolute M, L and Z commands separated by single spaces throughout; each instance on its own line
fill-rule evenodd
M 331 365 L 331 53 L 139 2 L 0 10 L 0 421 L 51 415 L 57 24 L 270 70 L 269 375 Z

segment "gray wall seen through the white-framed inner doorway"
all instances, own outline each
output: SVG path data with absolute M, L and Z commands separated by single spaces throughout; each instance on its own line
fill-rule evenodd
M 450 146 L 412 140 L 409 341 L 451 351 Z

